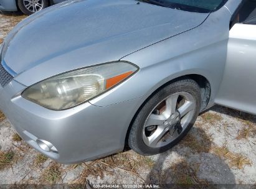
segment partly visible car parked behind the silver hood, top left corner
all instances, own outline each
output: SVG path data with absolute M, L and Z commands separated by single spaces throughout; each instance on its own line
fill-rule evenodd
M 0 11 L 19 11 L 31 15 L 52 4 L 57 4 L 65 0 L 0 0 Z

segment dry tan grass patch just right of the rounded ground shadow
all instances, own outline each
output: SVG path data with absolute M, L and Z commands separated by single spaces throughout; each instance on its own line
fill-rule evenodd
M 227 149 L 227 147 L 225 146 L 214 147 L 212 150 L 220 158 L 227 159 L 232 167 L 242 169 L 244 168 L 245 165 L 252 165 L 250 159 L 248 159 L 242 154 L 230 152 L 230 150 Z

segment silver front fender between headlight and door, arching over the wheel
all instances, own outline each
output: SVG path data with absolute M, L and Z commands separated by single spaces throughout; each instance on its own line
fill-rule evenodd
M 230 12 L 222 7 L 195 29 L 121 58 L 138 65 L 140 71 L 90 102 L 108 106 L 140 97 L 146 99 L 164 83 L 191 74 L 202 75 L 209 81 L 209 103 L 214 102 L 225 67 L 230 17 Z

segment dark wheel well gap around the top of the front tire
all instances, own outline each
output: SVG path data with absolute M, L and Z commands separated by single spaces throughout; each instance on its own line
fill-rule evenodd
M 128 137 L 129 137 L 129 133 L 130 133 L 130 129 L 131 126 L 133 124 L 133 121 L 135 120 L 137 114 L 140 112 L 141 108 L 144 106 L 144 104 L 146 103 L 146 101 L 148 101 L 149 98 L 151 98 L 151 96 L 153 96 L 158 90 L 160 90 L 161 88 L 164 88 L 164 86 L 169 85 L 170 83 L 173 83 L 174 81 L 179 81 L 182 79 L 191 79 L 196 81 L 196 83 L 199 85 L 199 87 L 201 88 L 201 111 L 204 110 L 208 103 L 209 103 L 209 99 L 211 96 L 211 85 L 209 83 L 209 81 L 202 75 L 197 75 L 197 74 L 191 74 L 191 75 L 184 75 L 184 76 L 180 76 L 178 78 L 175 78 L 171 81 L 168 81 L 167 83 L 164 83 L 164 85 L 160 86 L 157 90 L 155 90 L 144 102 L 143 104 L 141 104 L 140 108 L 136 111 L 135 115 L 133 116 L 133 119 L 130 122 L 130 126 L 128 127 L 128 131 L 126 132 L 126 137 L 125 137 L 125 149 L 128 147 Z

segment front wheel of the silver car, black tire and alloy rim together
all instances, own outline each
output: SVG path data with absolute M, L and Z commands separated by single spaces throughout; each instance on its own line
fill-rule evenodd
M 184 79 L 164 86 L 136 115 L 128 137 L 130 148 L 141 155 L 171 149 L 192 128 L 200 109 L 201 93 L 196 81 Z

